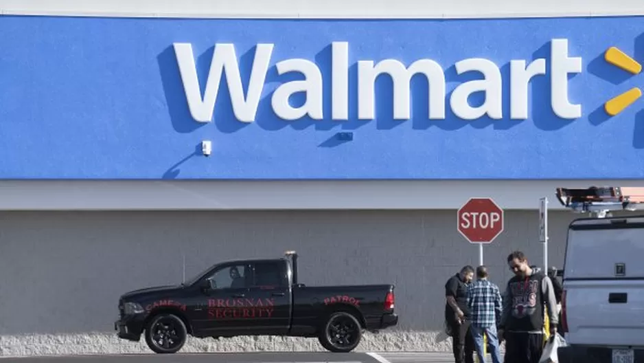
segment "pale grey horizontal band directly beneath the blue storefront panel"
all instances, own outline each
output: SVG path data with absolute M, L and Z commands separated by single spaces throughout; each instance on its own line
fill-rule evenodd
M 492 197 L 537 210 L 557 187 L 644 186 L 644 180 L 435 181 L 0 181 L 0 210 L 403 210 L 457 209 Z

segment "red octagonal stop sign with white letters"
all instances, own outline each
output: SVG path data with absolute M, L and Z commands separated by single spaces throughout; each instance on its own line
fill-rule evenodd
M 458 226 L 470 243 L 492 243 L 503 232 L 503 210 L 490 198 L 471 198 L 459 209 Z

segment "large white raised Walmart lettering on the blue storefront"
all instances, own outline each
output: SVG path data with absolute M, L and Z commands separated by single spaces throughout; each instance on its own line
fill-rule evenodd
M 251 68 L 249 89 L 244 94 L 235 46 L 228 43 L 215 45 L 213 58 L 206 80 L 205 94 L 201 97 L 197 78 L 192 45 L 174 43 L 174 52 L 185 91 L 188 108 L 192 118 L 197 122 L 211 122 L 215 102 L 221 81 L 222 72 L 226 74 L 233 113 L 241 122 L 253 122 L 257 106 L 262 96 L 266 72 L 271 63 L 273 44 L 257 44 L 255 58 Z M 322 72 L 312 61 L 301 58 L 290 58 L 276 64 L 279 75 L 288 72 L 303 74 L 304 80 L 292 80 L 275 89 L 271 106 L 275 114 L 284 120 L 298 120 L 308 116 L 313 120 L 322 120 L 323 83 Z M 487 116 L 494 120 L 503 118 L 503 82 L 501 71 L 492 61 L 485 58 L 468 58 L 455 64 L 457 74 L 480 72 L 481 80 L 470 80 L 458 85 L 450 96 L 449 106 L 452 112 L 463 120 L 476 120 Z M 331 87 L 332 119 L 349 118 L 349 44 L 332 43 Z M 555 115 L 563 119 L 575 119 L 582 116 L 581 104 L 572 104 L 568 100 L 568 74 L 582 72 L 582 58 L 568 56 L 568 40 L 553 39 L 551 42 L 551 107 Z M 358 118 L 373 120 L 376 109 L 375 82 L 378 76 L 387 74 L 393 81 L 393 118 L 409 120 L 410 87 L 409 83 L 415 74 L 422 74 L 428 80 L 428 115 L 432 120 L 444 120 L 446 113 L 446 81 L 444 69 L 431 59 L 419 59 L 409 67 L 394 59 L 384 59 L 376 64 L 373 61 L 358 61 Z M 528 83 L 536 76 L 546 76 L 546 61 L 538 58 L 526 65 L 525 60 L 510 61 L 510 118 L 525 120 L 528 118 Z M 483 91 L 485 101 L 479 107 L 472 107 L 468 97 Z M 300 107 L 292 107 L 288 98 L 292 94 L 303 92 L 306 102 Z M 541 107 L 541 105 L 536 105 Z

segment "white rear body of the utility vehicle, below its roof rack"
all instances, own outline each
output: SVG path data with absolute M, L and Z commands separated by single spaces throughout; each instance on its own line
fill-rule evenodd
M 644 346 L 644 217 L 573 221 L 563 281 L 568 343 Z

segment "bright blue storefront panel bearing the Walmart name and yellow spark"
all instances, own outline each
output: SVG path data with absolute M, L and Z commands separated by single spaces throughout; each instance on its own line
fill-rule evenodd
M 1 17 L 0 34 L 3 179 L 644 177 L 641 17 Z

